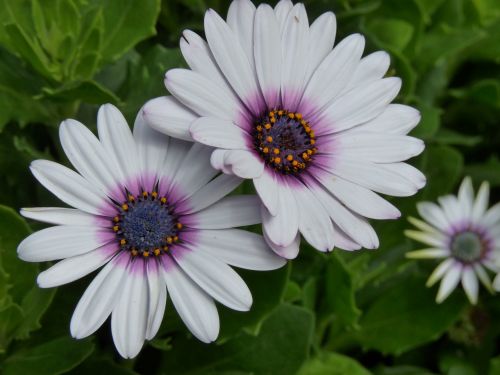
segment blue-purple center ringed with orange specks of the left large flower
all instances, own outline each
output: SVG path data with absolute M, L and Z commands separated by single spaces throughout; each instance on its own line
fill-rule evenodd
M 120 250 L 134 257 L 149 257 L 165 254 L 179 241 L 182 224 L 166 197 L 159 197 L 155 191 L 145 191 L 139 197 L 128 195 L 128 200 L 113 218 L 112 228 Z

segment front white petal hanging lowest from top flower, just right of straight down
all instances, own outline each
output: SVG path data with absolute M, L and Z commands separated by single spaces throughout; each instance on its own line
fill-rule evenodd
M 307 187 L 294 188 L 297 207 L 299 209 L 299 231 L 307 242 L 319 251 L 332 251 L 333 225 L 325 209 L 320 203 L 316 191 Z

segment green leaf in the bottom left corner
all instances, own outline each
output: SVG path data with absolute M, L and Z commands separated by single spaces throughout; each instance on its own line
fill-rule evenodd
M 94 345 L 89 340 L 61 337 L 14 353 L 4 361 L 3 374 L 63 374 L 78 366 L 93 350 Z

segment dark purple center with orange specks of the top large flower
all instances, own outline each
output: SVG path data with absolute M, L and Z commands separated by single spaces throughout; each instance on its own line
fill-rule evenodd
M 282 174 L 300 173 L 317 151 L 314 131 L 300 113 L 271 110 L 256 121 L 252 136 L 265 163 Z

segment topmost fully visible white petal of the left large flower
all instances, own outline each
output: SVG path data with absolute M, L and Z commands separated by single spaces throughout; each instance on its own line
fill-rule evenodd
M 105 104 L 97 113 L 99 139 L 111 159 L 128 178 L 131 191 L 139 191 L 135 180 L 140 173 L 134 137 L 122 113 L 112 104 Z

